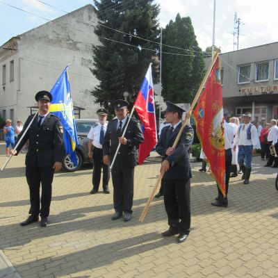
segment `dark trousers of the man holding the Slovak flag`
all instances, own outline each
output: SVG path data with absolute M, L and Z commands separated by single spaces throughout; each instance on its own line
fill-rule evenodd
M 113 166 L 111 174 L 115 211 L 132 213 L 134 167 Z

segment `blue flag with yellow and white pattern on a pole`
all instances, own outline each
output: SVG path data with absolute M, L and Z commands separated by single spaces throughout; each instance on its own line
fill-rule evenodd
M 65 141 L 65 152 L 70 154 L 70 159 L 77 166 L 75 148 L 79 144 L 76 126 L 74 121 L 74 107 L 72 104 L 72 94 L 70 92 L 69 76 L 67 68 L 60 75 L 54 87 L 51 89 L 53 100 L 51 101 L 50 112 L 60 117 L 63 124 L 63 134 Z

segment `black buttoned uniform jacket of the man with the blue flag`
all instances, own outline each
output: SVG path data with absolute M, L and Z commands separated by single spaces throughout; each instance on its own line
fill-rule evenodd
M 33 115 L 28 117 L 17 141 L 22 137 L 33 117 Z M 29 140 L 29 146 L 25 158 L 26 165 L 47 167 L 53 166 L 56 161 L 63 161 L 63 128 L 59 117 L 49 113 L 42 122 L 42 125 L 38 127 L 38 115 L 36 115 L 33 123 L 17 147 L 17 153 L 20 152 L 27 140 Z

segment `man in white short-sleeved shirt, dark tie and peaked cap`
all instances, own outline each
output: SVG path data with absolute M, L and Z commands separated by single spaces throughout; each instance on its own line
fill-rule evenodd
M 108 182 L 110 178 L 110 169 L 109 165 L 105 165 L 103 163 L 103 152 L 102 152 L 102 144 L 104 143 L 104 135 L 107 129 L 107 115 L 108 111 L 104 108 L 100 108 L 97 111 L 97 115 L 99 117 L 99 122 L 93 125 L 88 134 L 89 142 L 88 142 L 88 156 L 92 158 L 94 163 L 94 168 L 92 170 L 92 190 L 91 194 L 95 194 L 99 191 L 99 183 L 101 177 L 101 168 L 103 170 L 102 177 L 102 188 L 104 189 L 104 193 L 109 194 L 108 190 Z

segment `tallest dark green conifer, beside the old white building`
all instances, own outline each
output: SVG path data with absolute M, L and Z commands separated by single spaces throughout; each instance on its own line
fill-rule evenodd
M 153 4 L 153 1 L 95 1 L 99 19 L 95 33 L 101 44 L 92 46 L 94 67 L 91 72 L 99 80 L 99 85 L 91 93 L 95 97 L 95 103 L 104 106 L 111 113 L 113 108 L 110 104 L 115 99 L 123 99 L 125 91 L 130 94 L 129 102 L 133 103 L 149 63 L 153 63 L 154 80 L 157 78 L 155 56 L 158 44 L 147 41 L 159 42 L 159 6 Z

